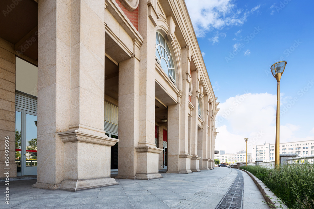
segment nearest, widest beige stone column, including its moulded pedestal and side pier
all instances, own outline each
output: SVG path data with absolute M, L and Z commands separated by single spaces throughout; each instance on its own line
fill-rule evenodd
M 118 140 L 104 131 L 105 15 L 98 8 L 104 1 L 39 2 L 39 28 L 43 20 L 55 27 L 38 41 L 35 187 L 78 191 L 117 184 L 110 177 L 110 147 Z M 51 34 L 56 37 L 44 44 Z M 47 77 L 52 84 L 46 87 Z

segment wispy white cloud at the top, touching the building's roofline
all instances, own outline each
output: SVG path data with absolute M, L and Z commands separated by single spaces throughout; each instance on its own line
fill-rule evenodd
M 243 25 L 247 12 L 236 9 L 236 5 L 232 2 L 232 0 L 186 0 L 196 35 L 203 37 L 212 28 L 221 29 L 225 26 Z

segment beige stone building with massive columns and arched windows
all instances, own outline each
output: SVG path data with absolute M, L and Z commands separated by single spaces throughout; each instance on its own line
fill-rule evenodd
M 147 180 L 213 168 L 218 102 L 184 0 L 0 8 L 2 171 L 77 191 L 117 184 L 116 169 Z

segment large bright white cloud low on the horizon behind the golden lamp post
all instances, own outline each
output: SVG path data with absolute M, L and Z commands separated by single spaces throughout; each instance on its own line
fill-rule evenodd
M 283 97 L 284 94 L 280 94 Z M 261 93 L 246 93 L 230 97 L 219 104 L 216 117 L 218 135 L 215 150 L 226 150 L 226 153 L 236 153 L 245 150 L 244 138 L 248 152 L 253 145 L 275 143 L 276 131 L 276 100 L 277 95 Z M 280 142 L 314 140 L 314 135 L 305 138 L 298 137 L 299 125 L 280 125 Z M 311 130 L 314 134 L 314 128 Z

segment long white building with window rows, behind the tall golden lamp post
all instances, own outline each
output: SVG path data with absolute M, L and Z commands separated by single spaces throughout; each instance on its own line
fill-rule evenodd
M 299 157 L 314 155 L 314 140 L 296 141 L 279 144 L 280 154 L 298 154 Z M 253 146 L 254 160 L 275 160 L 275 144 L 264 143 Z

